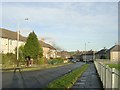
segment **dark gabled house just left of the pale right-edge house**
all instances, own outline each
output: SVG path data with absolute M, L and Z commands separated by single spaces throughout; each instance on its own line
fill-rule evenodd
M 104 49 L 101 49 L 100 51 L 96 52 L 95 53 L 95 59 L 106 59 L 106 52 L 107 52 L 107 49 L 104 48 Z

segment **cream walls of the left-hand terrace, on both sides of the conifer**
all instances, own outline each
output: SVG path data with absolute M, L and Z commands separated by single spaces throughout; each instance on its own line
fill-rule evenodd
M 3 53 L 3 54 L 14 53 L 15 54 L 15 48 L 17 47 L 17 40 L 0 37 L 0 43 L 1 43 L 0 53 Z M 25 45 L 25 42 L 18 41 L 18 46 L 21 46 L 21 45 Z M 42 48 L 43 48 L 43 57 L 47 59 L 49 59 L 50 57 L 53 57 L 53 58 L 56 57 L 56 50 L 52 50 L 48 47 L 42 47 Z

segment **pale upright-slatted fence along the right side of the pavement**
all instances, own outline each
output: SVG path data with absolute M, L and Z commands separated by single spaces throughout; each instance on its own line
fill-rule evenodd
M 105 89 L 120 90 L 120 72 L 115 68 L 110 68 L 99 61 L 94 61 L 97 72 Z

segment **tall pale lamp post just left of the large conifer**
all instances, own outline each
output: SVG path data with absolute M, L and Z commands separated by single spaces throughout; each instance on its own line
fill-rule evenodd
M 24 20 L 28 20 L 28 18 L 25 18 Z M 18 31 L 17 31 L 17 67 L 19 67 L 19 39 L 20 39 L 20 24 L 17 25 Z

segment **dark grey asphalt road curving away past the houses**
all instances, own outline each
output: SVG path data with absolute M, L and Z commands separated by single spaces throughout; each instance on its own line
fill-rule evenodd
M 59 76 L 62 76 L 74 70 L 84 63 L 77 62 L 61 67 L 26 71 L 26 72 L 3 72 L 2 73 L 2 87 L 3 88 L 45 88 L 49 82 L 55 80 Z

